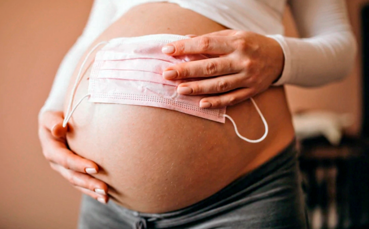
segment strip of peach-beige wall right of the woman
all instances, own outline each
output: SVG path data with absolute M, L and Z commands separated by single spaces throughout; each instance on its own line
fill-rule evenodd
M 361 46 L 359 13 L 365 2 L 369 2 L 369 0 L 347 0 L 352 29 L 358 38 L 359 46 Z M 287 15 L 287 18 L 289 18 L 289 15 Z M 286 20 L 286 22 L 288 21 Z M 296 31 L 293 26 L 291 27 L 287 27 L 287 33 L 295 36 Z M 352 73 L 341 82 L 313 89 L 288 86 L 287 96 L 291 111 L 324 109 L 338 113 L 351 113 L 354 117 L 354 124 L 348 128 L 347 133 L 358 134 L 361 125 L 362 103 L 360 56 L 361 50 L 359 48 L 359 55 Z

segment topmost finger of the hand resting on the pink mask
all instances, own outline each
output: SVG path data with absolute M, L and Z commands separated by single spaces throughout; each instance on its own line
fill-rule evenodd
M 232 53 L 235 38 L 226 36 L 199 36 L 177 40 L 162 48 L 162 52 L 172 56 L 187 54 L 226 55 Z

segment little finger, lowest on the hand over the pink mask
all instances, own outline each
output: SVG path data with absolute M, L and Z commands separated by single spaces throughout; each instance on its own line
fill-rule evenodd
M 251 88 L 241 88 L 232 92 L 216 95 L 211 97 L 205 97 L 200 100 L 200 107 L 202 108 L 222 108 L 225 106 L 232 106 L 239 102 L 242 102 L 255 95 L 254 90 Z

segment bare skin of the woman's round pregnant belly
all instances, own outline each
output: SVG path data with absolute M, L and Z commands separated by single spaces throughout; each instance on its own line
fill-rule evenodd
M 226 28 L 175 4 L 150 3 L 128 11 L 95 43 L 158 33 L 200 35 L 222 29 Z M 90 71 L 91 65 L 86 67 L 74 104 L 87 94 Z M 65 104 L 76 75 L 77 71 Z M 67 140 L 75 153 L 99 165 L 95 177 L 109 185 L 109 194 L 118 204 L 143 212 L 177 210 L 219 191 L 291 141 L 293 128 L 283 89 L 270 89 L 254 99 L 270 127 L 268 137 L 258 144 L 238 138 L 230 121 L 223 124 L 173 110 L 87 101 L 69 121 Z M 227 114 L 242 135 L 257 139 L 264 133 L 250 101 L 228 107 Z

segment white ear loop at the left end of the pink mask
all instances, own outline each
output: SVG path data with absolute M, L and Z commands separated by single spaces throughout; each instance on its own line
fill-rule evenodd
M 74 86 L 73 86 L 73 89 L 72 89 L 72 95 L 69 99 L 69 103 L 68 103 L 68 109 L 67 109 L 67 113 L 66 114 L 69 114 L 69 115 L 65 115 L 64 117 L 64 120 L 63 120 L 63 127 L 66 127 L 67 124 L 68 124 L 68 121 L 69 119 L 72 117 L 72 114 L 74 113 L 74 111 L 77 109 L 78 105 L 83 101 L 83 99 L 89 97 L 90 95 L 85 95 L 83 96 L 79 101 L 78 103 L 73 107 L 72 109 L 72 103 L 73 103 L 73 97 L 74 95 L 76 94 L 76 90 L 77 90 L 77 87 L 78 87 L 78 83 L 79 83 L 79 80 L 81 78 L 81 74 L 82 74 L 82 70 L 83 70 L 83 67 L 84 65 L 86 64 L 87 62 L 87 59 L 88 57 L 90 57 L 90 55 L 95 51 L 95 49 L 97 49 L 98 46 L 100 46 L 101 44 L 107 44 L 108 41 L 101 41 L 99 43 L 97 43 L 91 50 L 90 52 L 88 52 L 87 56 L 84 58 L 81 66 L 79 67 L 79 71 L 78 71 L 78 75 L 77 75 L 77 78 L 76 78 L 76 81 L 74 83 Z M 72 111 L 71 111 L 72 110 Z

